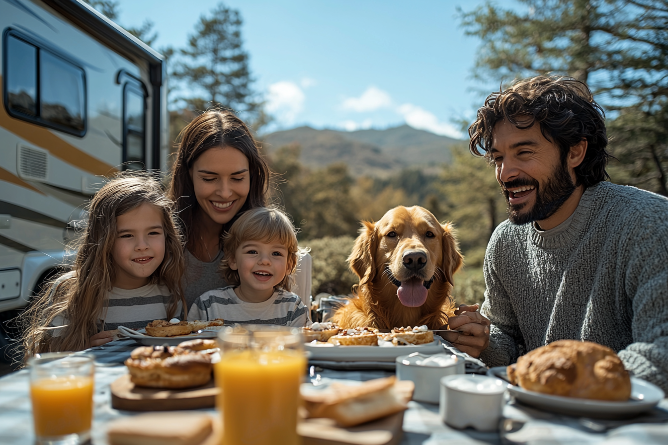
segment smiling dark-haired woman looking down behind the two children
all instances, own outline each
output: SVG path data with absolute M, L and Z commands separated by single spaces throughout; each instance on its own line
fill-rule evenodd
M 238 213 L 266 205 L 269 175 L 251 131 L 230 111 L 206 111 L 182 131 L 169 197 L 186 236 L 187 307 L 207 290 L 227 286 L 218 274 L 221 236 Z

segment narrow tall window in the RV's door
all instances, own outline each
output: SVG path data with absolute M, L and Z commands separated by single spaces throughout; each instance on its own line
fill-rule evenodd
M 126 169 L 146 168 L 144 149 L 144 93 L 131 83 L 126 83 L 124 100 L 124 165 Z

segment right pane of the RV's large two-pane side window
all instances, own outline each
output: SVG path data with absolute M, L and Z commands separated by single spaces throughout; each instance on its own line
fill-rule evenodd
M 59 127 L 83 131 L 83 71 L 41 50 L 39 59 L 41 118 Z

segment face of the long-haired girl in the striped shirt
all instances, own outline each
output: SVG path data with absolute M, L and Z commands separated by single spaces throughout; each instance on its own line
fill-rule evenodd
M 162 212 L 144 203 L 116 217 L 116 241 L 112 258 L 116 280 L 121 289 L 146 286 L 149 277 L 162 264 L 165 256 L 165 231 Z

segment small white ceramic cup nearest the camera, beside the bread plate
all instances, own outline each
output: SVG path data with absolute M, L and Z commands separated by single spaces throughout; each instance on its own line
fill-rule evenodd
M 439 406 L 441 420 L 454 428 L 471 426 L 478 431 L 496 431 L 506 388 L 506 382 L 494 377 L 476 374 L 444 377 Z

